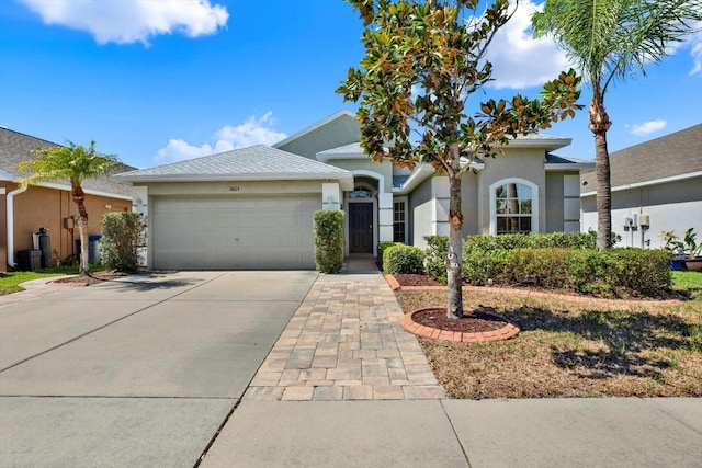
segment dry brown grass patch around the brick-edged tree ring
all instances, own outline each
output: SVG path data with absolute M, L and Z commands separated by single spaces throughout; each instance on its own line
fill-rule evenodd
M 405 313 L 445 304 L 444 292 L 396 293 Z M 567 298 L 465 292 L 519 336 L 488 343 L 424 340 L 450 398 L 702 397 L 702 301 L 582 304 Z

